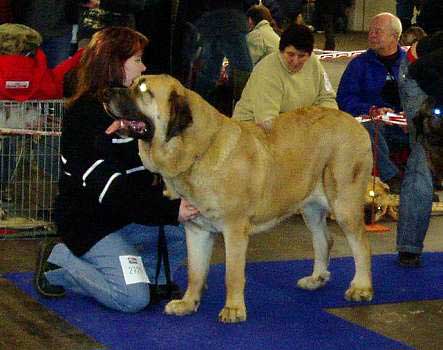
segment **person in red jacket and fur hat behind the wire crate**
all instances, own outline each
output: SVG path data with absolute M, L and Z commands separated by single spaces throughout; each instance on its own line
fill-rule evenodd
M 64 77 L 77 66 L 82 50 L 50 69 L 41 44 L 40 33 L 28 26 L 16 23 L 0 25 L 0 100 L 26 102 L 63 98 Z M 46 115 L 43 115 L 40 103 L 0 103 L 3 106 L 0 110 L 0 128 L 41 129 L 45 125 L 46 130 L 53 130 L 52 126 L 46 126 Z M 40 123 L 42 120 L 45 124 Z M 6 184 L 16 167 L 17 157 L 10 155 L 16 154 L 17 144 L 3 139 L 1 147 L 0 182 Z M 54 181 L 59 175 L 58 151 L 59 137 L 40 139 L 36 159 L 39 167 Z

